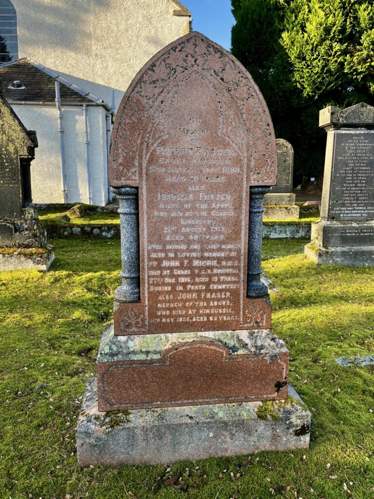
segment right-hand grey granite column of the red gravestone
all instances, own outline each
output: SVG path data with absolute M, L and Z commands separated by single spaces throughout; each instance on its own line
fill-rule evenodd
M 260 298 L 268 293 L 261 278 L 262 217 L 264 196 L 270 187 L 251 187 L 249 193 L 247 296 Z

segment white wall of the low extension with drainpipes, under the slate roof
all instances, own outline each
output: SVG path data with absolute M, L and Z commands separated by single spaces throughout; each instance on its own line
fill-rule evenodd
M 31 163 L 34 203 L 62 203 L 60 148 L 55 106 L 18 105 L 12 108 L 28 130 L 36 130 L 38 148 Z M 92 203 L 108 202 L 105 109 L 88 106 Z M 67 203 L 87 203 L 87 169 L 82 106 L 63 106 Z

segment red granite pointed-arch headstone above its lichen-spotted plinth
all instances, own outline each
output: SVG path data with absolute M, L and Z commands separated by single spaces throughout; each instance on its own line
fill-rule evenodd
M 131 236 L 123 238 L 116 334 L 270 325 L 265 287 L 258 284 L 262 300 L 247 298 L 248 210 L 250 187 L 275 184 L 276 166 L 266 103 L 222 47 L 193 32 L 143 67 L 112 135 L 110 183 L 125 194 L 126 212 L 137 207 L 121 188 L 137 188 L 140 219 L 138 266 L 129 265 L 139 252 L 137 241 L 129 245 L 134 227 L 124 228 Z M 254 199 L 265 192 L 252 189 Z M 259 225 L 251 229 L 259 235 Z M 258 282 L 258 237 L 256 245 L 249 271 Z

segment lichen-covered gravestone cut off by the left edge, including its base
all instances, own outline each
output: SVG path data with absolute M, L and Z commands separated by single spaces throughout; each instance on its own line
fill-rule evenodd
M 35 133 L 25 129 L 0 94 L 0 270 L 47 270 L 53 260 L 31 201 L 35 147 Z

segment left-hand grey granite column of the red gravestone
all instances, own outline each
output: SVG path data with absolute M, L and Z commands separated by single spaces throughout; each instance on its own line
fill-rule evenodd
M 139 202 L 136 187 L 112 189 L 120 202 L 122 284 L 115 290 L 117 301 L 140 300 Z

